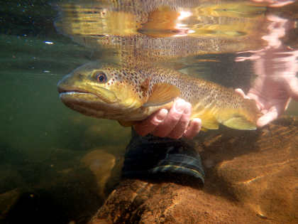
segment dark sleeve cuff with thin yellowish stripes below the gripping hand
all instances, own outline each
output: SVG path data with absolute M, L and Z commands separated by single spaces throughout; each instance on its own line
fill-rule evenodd
M 184 174 L 204 183 L 199 153 L 182 139 L 139 136 L 132 129 L 122 169 L 124 178 L 144 178 L 153 174 Z

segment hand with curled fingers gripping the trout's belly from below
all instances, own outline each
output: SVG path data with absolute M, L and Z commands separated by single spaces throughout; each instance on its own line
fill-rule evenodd
M 170 111 L 161 109 L 147 119 L 135 125 L 136 132 L 141 136 L 153 134 L 157 137 L 192 139 L 202 127 L 201 119 L 190 121 L 192 105 L 185 100 L 177 98 Z

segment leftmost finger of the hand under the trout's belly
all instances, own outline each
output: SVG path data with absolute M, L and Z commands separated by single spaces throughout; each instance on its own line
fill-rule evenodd
M 143 122 L 140 122 L 135 125 L 135 130 L 140 136 L 145 136 L 158 127 L 160 123 L 167 117 L 167 110 L 162 109 L 152 114 L 148 119 L 145 119 Z

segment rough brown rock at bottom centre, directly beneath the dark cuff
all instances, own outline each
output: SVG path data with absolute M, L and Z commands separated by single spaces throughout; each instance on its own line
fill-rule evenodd
M 199 188 L 126 180 L 111 193 L 90 223 L 256 223 L 257 220 L 237 203 Z

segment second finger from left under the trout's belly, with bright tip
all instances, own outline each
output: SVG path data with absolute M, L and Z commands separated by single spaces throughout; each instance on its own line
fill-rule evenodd
M 165 117 L 163 122 L 155 128 L 152 134 L 158 137 L 167 137 L 167 135 L 172 132 L 172 129 L 174 129 L 176 124 L 179 122 L 185 109 L 185 105 L 185 100 L 177 99 L 167 114 L 167 117 Z

